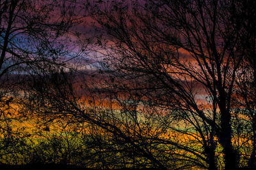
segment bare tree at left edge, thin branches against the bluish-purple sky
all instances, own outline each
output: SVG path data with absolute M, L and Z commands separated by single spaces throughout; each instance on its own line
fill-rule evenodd
M 12 121 L 20 120 L 21 91 L 26 90 L 22 85 L 29 83 L 29 74 L 64 67 L 77 56 L 69 47 L 74 36 L 70 28 L 78 23 L 75 5 L 74 1 L 0 1 L 1 156 L 19 152 L 19 139 L 24 138 L 24 131 L 15 130 L 19 126 Z

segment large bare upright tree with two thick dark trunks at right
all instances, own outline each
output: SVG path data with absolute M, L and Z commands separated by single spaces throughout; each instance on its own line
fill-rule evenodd
M 140 76 L 148 83 L 157 82 L 152 88 L 162 89 L 164 96 L 148 97 L 148 101 L 164 105 L 170 115 L 195 129 L 193 135 L 202 143 L 209 169 L 216 168 L 218 143 L 225 169 L 238 168 L 241 151 L 233 143 L 234 117 L 241 112 L 232 107 L 234 83 L 248 49 L 241 45 L 241 34 L 249 37 L 252 32 L 239 24 L 245 23 L 240 12 L 248 5 L 240 1 L 132 3 L 102 5 L 94 15 L 106 30 L 108 43 L 101 44 L 109 50 L 111 69 L 125 79 Z

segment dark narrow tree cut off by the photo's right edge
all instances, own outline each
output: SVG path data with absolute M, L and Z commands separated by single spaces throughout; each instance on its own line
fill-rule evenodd
M 255 17 L 256 13 L 252 10 L 252 5 L 255 5 L 254 1 L 241 2 L 241 10 L 236 11 L 237 16 L 236 24 L 241 25 L 243 32 L 241 32 L 241 46 L 245 48 L 245 59 L 241 72 L 239 73 L 238 80 L 236 81 L 237 95 L 241 97 L 239 106 L 243 108 L 243 122 L 246 122 L 244 129 L 248 129 L 247 134 L 250 141 L 252 141 L 252 150 L 249 153 L 248 166 L 255 168 L 255 80 L 256 80 L 256 67 L 255 67 Z M 246 9 L 246 10 L 245 10 Z M 246 13 L 243 12 L 246 11 Z M 243 22 L 241 22 L 243 21 Z M 241 24 L 239 24 L 239 22 Z

